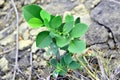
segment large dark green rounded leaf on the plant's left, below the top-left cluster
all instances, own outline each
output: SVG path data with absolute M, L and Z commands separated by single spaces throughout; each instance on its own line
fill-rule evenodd
M 49 46 L 52 42 L 52 38 L 49 35 L 48 31 L 40 32 L 36 38 L 36 45 L 39 48 L 45 48 Z

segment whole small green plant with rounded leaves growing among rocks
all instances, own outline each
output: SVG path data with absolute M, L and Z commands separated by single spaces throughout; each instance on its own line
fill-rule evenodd
M 64 76 L 69 70 L 81 70 L 84 67 L 74 57 L 86 49 L 86 43 L 80 37 L 86 33 L 88 26 L 81 23 L 79 17 L 74 20 L 72 15 L 67 15 L 63 20 L 61 16 L 49 14 L 34 4 L 24 6 L 23 15 L 32 28 L 47 28 L 36 36 L 36 46 L 49 47 L 55 55 L 49 61 L 54 69 L 54 77 Z M 59 50 L 66 53 L 60 55 Z M 83 57 L 79 60 L 85 62 Z

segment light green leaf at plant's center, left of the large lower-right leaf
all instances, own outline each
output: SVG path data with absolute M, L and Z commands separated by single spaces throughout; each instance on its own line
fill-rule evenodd
M 59 47 L 66 46 L 70 41 L 70 39 L 65 36 L 56 37 L 55 39 L 56 39 L 56 44 Z

